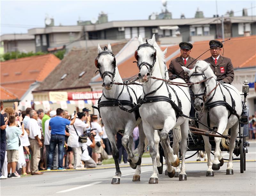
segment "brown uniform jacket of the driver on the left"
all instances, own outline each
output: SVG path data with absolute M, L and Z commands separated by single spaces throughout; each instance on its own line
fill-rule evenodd
M 186 65 L 184 64 L 184 61 L 182 59 L 182 56 L 177 57 L 175 59 L 171 60 L 171 63 L 169 65 L 169 69 L 168 69 L 168 73 L 169 73 L 169 77 L 170 79 L 174 79 L 171 78 L 171 76 L 173 74 L 178 75 L 181 71 L 183 71 L 183 69 L 181 68 L 182 66 L 187 67 L 193 60 L 195 60 L 192 57 L 188 57 L 187 63 Z M 191 65 L 189 65 L 187 68 L 188 69 L 192 69 L 194 67 L 194 64 L 196 63 L 196 61 L 194 61 Z M 188 82 L 188 74 L 186 72 L 182 72 L 179 76 L 179 78 L 182 78 L 183 80 L 185 80 L 186 82 Z

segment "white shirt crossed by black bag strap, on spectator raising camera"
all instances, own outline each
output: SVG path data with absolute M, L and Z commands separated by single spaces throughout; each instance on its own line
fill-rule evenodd
M 75 128 L 76 130 L 75 130 Z M 85 124 L 83 121 L 81 121 L 79 118 L 76 118 L 75 123 L 73 125 L 69 125 L 69 134 L 70 136 L 68 137 L 68 146 L 71 148 L 77 148 L 79 146 L 82 146 L 80 142 L 78 142 L 78 136 L 83 135 L 84 129 L 88 127 L 88 124 Z M 78 136 L 77 136 L 77 134 Z

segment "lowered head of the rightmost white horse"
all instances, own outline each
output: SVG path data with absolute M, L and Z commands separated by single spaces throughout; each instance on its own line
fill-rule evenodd
M 206 96 L 206 81 L 200 82 L 206 79 L 205 71 L 209 68 L 209 63 L 199 60 L 196 62 L 193 69 L 188 69 L 182 67 L 185 72 L 188 73 L 189 82 L 195 83 L 191 85 L 191 89 L 195 98 L 195 108 L 196 110 L 201 110 L 204 106 L 205 96 Z M 197 83 L 200 82 L 200 83 Z

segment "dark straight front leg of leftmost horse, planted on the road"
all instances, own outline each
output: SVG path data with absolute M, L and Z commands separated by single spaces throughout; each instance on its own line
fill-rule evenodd
M 119 167 L 119 162 L 118 162 L 119 151 L 116 146 L 116 137 L 115 137 L 114 133 L 108 135 L 108 139 L 109 139 L 110 145 L 112 147 L 112 156 L 113 156 L 113 159 L 115 161 L 115 166 L 116 166 L 116 175 L 113 177 L 111 184 L 120 184 L 120 178 L 121 178 L 122 173 L 121 173 L 120 167 Z

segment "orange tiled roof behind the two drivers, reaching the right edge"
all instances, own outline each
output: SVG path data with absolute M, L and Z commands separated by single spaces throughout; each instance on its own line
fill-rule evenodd
M 191 50 L 190 56 L 197 58 L 202 53 L 207 51 L 209 49 L 209 41 L 201 41 L 201 42 L 193 43 L 193 49 Z M 225 42 L 224 44 L 223 56 L 231 59 L 234 68 L 255 67 L 256 66 L 255 41 L 256 41 L 255 35 L 248 36 L 248 37 L 231 38 L 231 40 Z M 164 50 L 165 48 L 161 47 L 161 49 Z M 166 58 L 168 58 L 168 56 L 170 56 L 173 52 L 177 50 L 179 50 L 179 45 L 169 46 L 167 49 L 167 54 L 165 55 Z M 221 52 L 223 52 L 223 49 L 221 50 Z M 166 62 L 167 68 L 169 67 L 171 60 L 178 56 L 180 56 L 180 52 Z M 211 53 L 210 51 L 208 51 L 198 59 L 204 60 L 210 56 L 211 56 Z M 131 56 L 129 59 L 127 59 L 126 61 L 118 65 L 119 74 L 121 75 L 122 78 L 128 78 L 139 73 L 136 63 L 132 63 L 132 61 L 135 61 L 134 56 Z M 99 81 L 101 81 L 101 78 L 97 79 L 97 81 L 95 82 L 99 82 Z

